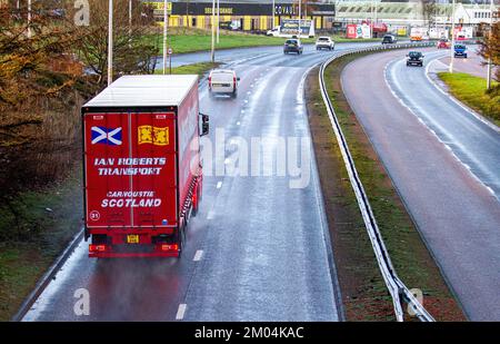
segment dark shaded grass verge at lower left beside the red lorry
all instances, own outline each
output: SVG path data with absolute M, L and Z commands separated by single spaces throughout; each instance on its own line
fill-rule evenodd
M 48 189 L 23 191 L 0 205 L 3 237 L 21 232 L 23 238 L 0 243 L 0 321 L 9 321 L 47 272 L 54 258 L 81 228 L 80 167 L 72 177 Z M 17 229 L 14 229 L 17 228 Z M 28 236 L 28 237 L 27 237 Z

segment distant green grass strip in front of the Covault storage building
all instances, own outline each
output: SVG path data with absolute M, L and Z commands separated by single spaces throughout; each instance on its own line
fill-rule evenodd
M 173 53 L 186 53 L 196 51 L 206 51 L 211 49 L 211 32 L 201 29 L 183 29 L 177 28 L 169 31 L 169 47 L 172 48 Z M 151 35 L 146 37 L 152 43 L 160 46 L 162 49 L 162 35 Z M 379 41 L 380 39 L 347 39 L 343 37 L 332 37 L 336 42 L 367 42 Z M 314 38 L 301 39 L 302 43 L 316 42 Z M 261 35 L 250 35 L 243 32 L 220 31 L 219 43 L 216 45 L 216 49 L 231 49 L 231 48 L 246 48 L 246 47 L 264 47 L 264 46 L 282 46 L 284 38 L 281 37 L 267 37 Z

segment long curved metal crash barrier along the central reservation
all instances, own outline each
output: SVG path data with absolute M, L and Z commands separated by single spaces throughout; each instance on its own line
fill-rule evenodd
M 404 49 L 404 48 L 417 48 L 417 47 L 432 47 L 434 42 L 421 42 L 421 43 L 401 43 L 401 45 L 389 45 L 379 47 L 368 47 L 360 49 L 351 49 L 346 52 L 337 55 L 326 62 L 323 62 L 319 70 L 319 80 L 321 96 L 323 98 L 324 105 L 327 106 L 328 116 L 330 117 L 331 126 L 337 137 L 337 141 L 342 154 L 343 161 L 346 164 L 346 169 L 349 175 L 349 180 L 351 183 L 352 189 L 354 191 L 359 209 L 363 217 L 364 226 L 367 227 L 368 235 L 370 237 L 371 245 L 373 247 L 374 255 L 377 257 L 377 263 L 379 265 L 380 272 L 382 274 L 383 281 L 386 282 L 387 288 L 392 297 L 392 304 L 394 308 L 396 320 L 398 322 L 404 321 L 404 313 L 401 304 L 401 298 L 408 303 L 414 315 L 422 322 L 433 322 L 434 318 L 426 311 L 426 308 L 420 304 L 413 293 L 402 283 L 398 277 L 398 274 L 392 266 L 391 258 L 387 252 L 386 245 L 383 243 L 382 235 L 377 225 L 373 212 L 368 200 L 367 193 L 364 191 L 361 179 L 359 178 L 358 171 L 356 169 L 354 160 L 349 151 L 349 146 L 347 144 L 346 137 L 342 134 L 339 120 L 334 112 L 334 108 L 328 96 L 327 86 L 324 83 L 324 70 L 327 67 L 336 59 L 339 59 L 349 55 L 364 53 L 364 52 L 376 52 L 392 49 Z

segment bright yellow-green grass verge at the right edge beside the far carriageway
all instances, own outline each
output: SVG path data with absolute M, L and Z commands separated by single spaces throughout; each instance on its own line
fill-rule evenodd
M 486 79 L 464 72 L 439 72 L 438 76 L 453 97 L 500 126 L 500 90 L 488 94 Z M 498 85 L 493 82 L 493 87 Z

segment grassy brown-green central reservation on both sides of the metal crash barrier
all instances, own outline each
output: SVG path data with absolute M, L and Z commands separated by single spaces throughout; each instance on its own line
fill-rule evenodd
M 326 72 L 327 85 L 394 268 L 408 287 L 423 292 L 423 304 L 438 321 L 463 321 L 460 307 L 342 94 L 340 73 L 356 58 L 346 57 L 330 65 Z M 311 72 L 308 82 L 309 121 L 346 318 L 394 320 L 391 298 L 321 98 L 317 72 Z

